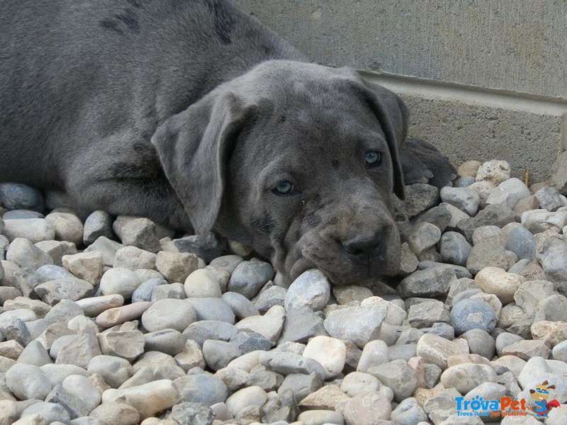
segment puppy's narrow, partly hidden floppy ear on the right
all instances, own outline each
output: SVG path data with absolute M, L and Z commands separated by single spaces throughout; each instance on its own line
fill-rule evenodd
M 390 149 L 394 171 L 394 193 L 398 198 L 405 198 L 403 170 L 400 161 L 400 149 L 403 147 L 408 134 L 408 107 L 405 103 L 388 89 L 362 80 L 366 90 L 364 96 L 372 107 L 376 118 L 386 135 L 386 142 Z

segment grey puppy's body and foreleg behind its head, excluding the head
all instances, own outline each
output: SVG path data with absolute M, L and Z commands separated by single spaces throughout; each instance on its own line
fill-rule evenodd
M 150 145 L 156 128 L 256 64 L 301 59 L 215 0 L 8 0 L 0 38 L 0 179 L 176 228 L 189 222 Z M 118 195 L 125 179 L 147 196 Z

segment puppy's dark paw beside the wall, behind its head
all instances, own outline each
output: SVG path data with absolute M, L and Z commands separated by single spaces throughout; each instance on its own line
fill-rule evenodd
M 452 186 L 457 178 L 449 158 L 423 140 L 408 139 L 400 152 L 406 185 L 427 183 L 437 188 Z

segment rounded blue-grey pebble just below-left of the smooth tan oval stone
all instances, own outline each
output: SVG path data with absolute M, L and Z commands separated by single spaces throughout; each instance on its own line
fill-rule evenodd
M 490 305 L 479 300 L 461 300 L 451 309 L 451 325 L 456 334 L 464 334 L 470 329 L 482 329 L 490 333 L 498 317 Z

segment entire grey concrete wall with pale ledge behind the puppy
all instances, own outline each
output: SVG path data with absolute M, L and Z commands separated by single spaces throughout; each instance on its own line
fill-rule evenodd
M 567 1 L 237 1 L 314 62 L 396 91 L 410 135 L 454 162 L 506 159 L 544 179 L 566 148 Z

